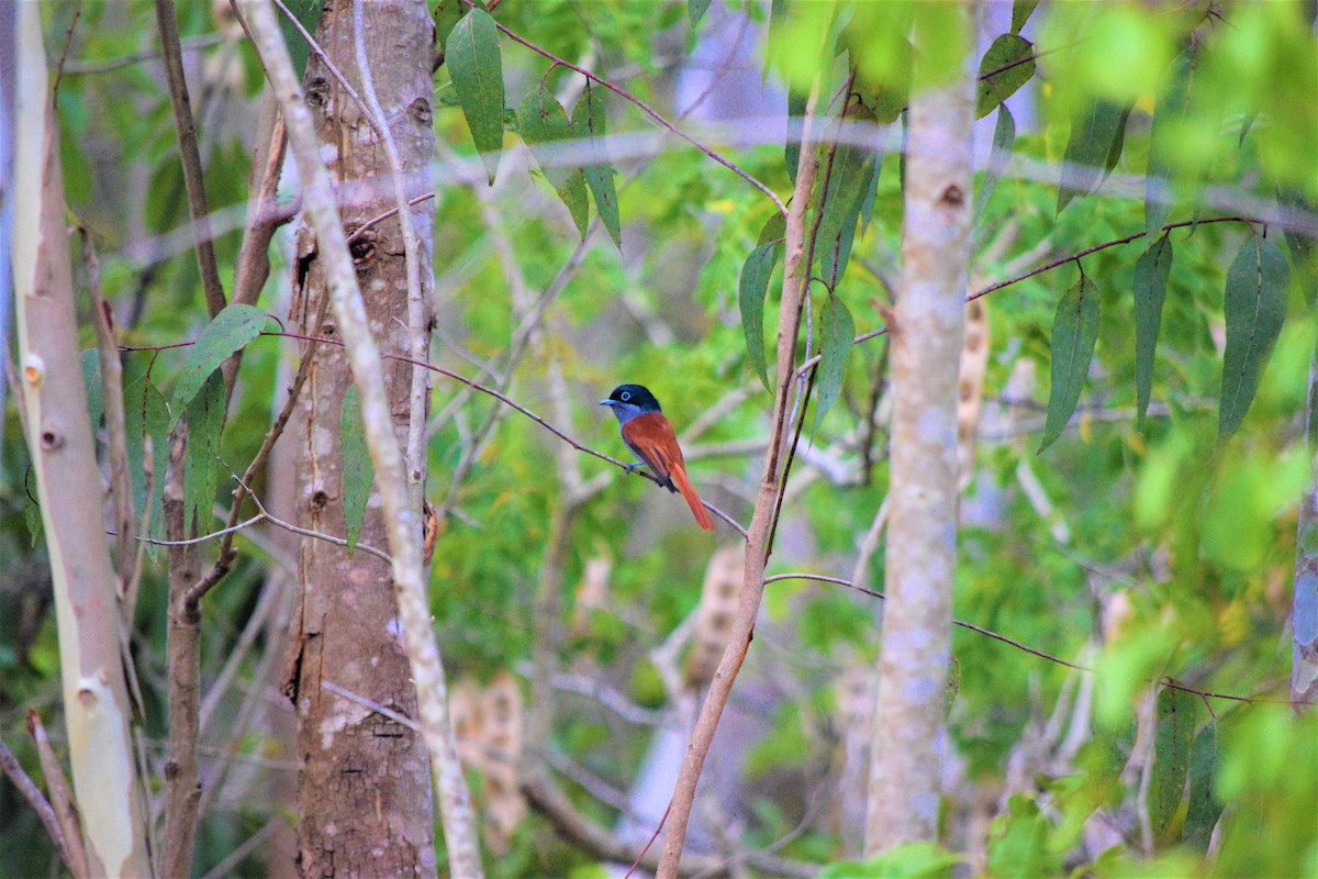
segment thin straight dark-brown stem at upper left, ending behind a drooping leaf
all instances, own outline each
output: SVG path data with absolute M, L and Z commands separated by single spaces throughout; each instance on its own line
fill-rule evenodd
M 156 24 L 161 34 L 161 57 L 165 62 L 165 78 L 169 82 L 170 105 L 174 108 L 174 130 L 178 134 L 179 161 L 183 163 L 187 207 L 192 216 L 196 268 L 202 274 L 206 311 L 214 318 L 224 310 L 224 286 L 220 283 L 220 270 L 215 262 L 211 211 L 206 200 L 202 152 L 196 144 L 196 124 L 192 119 L 192 105 L 187 96 L 187 79 L 183 75 L 183 50 L 178 40 L 178 17 L 174 12 L 173 0 L 156 0 Z M 224 381 L 227 385 L 232 386 L 233 373 L 236 372 L 236 364 L 225 370 Z

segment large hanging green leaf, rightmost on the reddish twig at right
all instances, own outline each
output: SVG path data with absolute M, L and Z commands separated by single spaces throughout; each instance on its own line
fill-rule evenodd
M 1286 257 L 1272 241 L 1255 239 L 1227 270 L 1227 347 L 1222 356 L 1218 441 L 1235 434 L 1249 411 L 1272 347 L 1286 320 Z

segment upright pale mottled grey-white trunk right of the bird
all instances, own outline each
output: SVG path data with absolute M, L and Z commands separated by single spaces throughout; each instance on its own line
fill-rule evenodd
M 960 18 L 966 50 L 974 40 L 970 11 L 970 5 L 945 8 L 949 17 Z M 917 13 L 916 57 L 946 53 L 948 43 L 920 40 L 920 18 Z M 917 87 L 909 109 L 902 281 L 892 318 L 888 597 L 865 834 L 871 855 L 934 839 L 938 826 L 957 560 L 957 372 L 970 257 L 974 121 L 966 58 L 952 63 L 961 75 Z M 921 82 L 919 69 L 916 82 Z

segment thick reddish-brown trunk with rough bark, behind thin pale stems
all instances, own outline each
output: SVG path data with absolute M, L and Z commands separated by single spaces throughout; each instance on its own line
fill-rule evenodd
M 389 120 L 405 169 L 409 198 L 430 188 L 435 141 L 431 128 L 430 62 L 434 26 L 424 3 L 380 0 L 364 7 L 365 49 L 376 94 Z M 330 4 L 316 40 L 333 66 L 360 94 L 356 36 L 349 0 Z M 366 116 L 335 75 L 315 57 L 304 76 L 330 170 L 339 184 L 348 233 L 394 207 L 385 149 Z M 420 240 L 419 273 L 430 303 L 434 221 L 430 202 L 413 208 Z M 407 352 L 407 285 L 398 217 L 353 244 L 368 322 L 384 352 Z M 339 337 L 315 236 L 303 229 L 291 323 L 307 335 Z M 428 307 L 428 304 L 427 304 Z M 320 315 L 326 315 L 319 318 Z M 410 415 L 411 368 L 386 361 L 386 390 L 403 441 Z M 344 535 L 340 418 L 352 385 L 341 348 L 322 345 L 302 393 L 290 435 L 301 444 L 298 525 Z M 360 542 L 386 548 L 382 507 L 373 493 Z M 435 875 L 430 763 L 422 738 L 357 701 L 333 684 L 407 717 L 416 716 L 390 567 L 357 551 L 303 539 L 299 553 L 299 638 L 293 669 L 298 709 L 299 857 L 303 875 Z

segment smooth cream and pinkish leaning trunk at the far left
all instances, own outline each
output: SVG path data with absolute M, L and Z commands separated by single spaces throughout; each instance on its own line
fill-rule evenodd
M 18 370 L 54 581 L 69 760 L 92 875 L 149 876 L 38 4 L 18 4 L 17 37 L 12 257 Z

